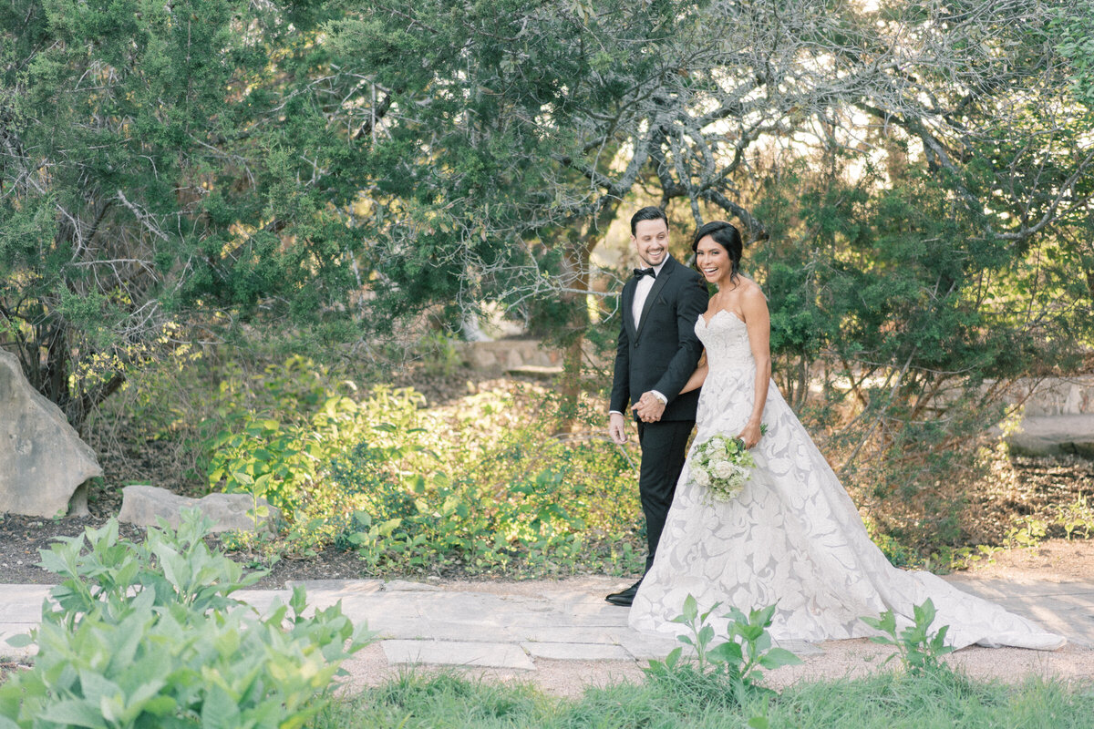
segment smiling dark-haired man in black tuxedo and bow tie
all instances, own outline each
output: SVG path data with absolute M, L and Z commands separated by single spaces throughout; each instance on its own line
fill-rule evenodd
M 630 242 L 644 268 L 635 269 L 635 278 L 622 287 L 608 435 L 619 445 L 627 442 L 624 412 L 630 403 L 642 447 L 638 491 L 645 515 L 649 572 L 695 426 L 699 390 L 683 396 L 679 391 L 702 353 L 695 324 L 707 310 L 709 294 L 697 271 L 668 255 L 668 219 L 660 208 L 635 213 Z M 629 605 L 641 584 L 640 579 L 606 599 Z

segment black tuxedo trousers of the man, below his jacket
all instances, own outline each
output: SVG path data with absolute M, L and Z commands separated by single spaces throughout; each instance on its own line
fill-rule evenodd
M 638 442 L 642 446 L 642 466 L 638 475 L 638 493 L 645 514 L 645 539 L 649 545 L 645 571 L 653 566 L 653 556 L 665 528 L 665 517 L 673 504 L 676 481 L 687 457 L 687 439 L 695 421 L 638 421 Z

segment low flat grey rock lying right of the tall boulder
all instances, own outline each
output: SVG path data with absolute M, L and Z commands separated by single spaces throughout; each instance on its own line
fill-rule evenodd
M 265 498 L 258 499 L 267 515 L 258 517 L 257 526 L 267 524 L 278 510 Z M 154 527 L 156 517 L 163 517 L 172 527 L 178 527 L 183 509 L 196 508 L 212 519 L 212 531 L 249 531 L 256 527 L 248 512 L 254 509 L 254 501 L 247 494 L 209 494 L 201 498 L 188 498 L 156 486 L 126 486 L 121 490 L 121 512 L 118 521 Z

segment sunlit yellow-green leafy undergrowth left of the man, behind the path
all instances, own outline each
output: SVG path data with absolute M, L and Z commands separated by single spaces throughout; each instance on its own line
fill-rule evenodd
M 360 401 L 327 390 L 292 423 L 238 413 L 210 444 L 210 484 L 268 498 L 287 528 L 277 543 L 228 543 L 270 558 L 334 544 L 372 573 L 638 568 L 633 460 L 550 435 L 532 395 L 427 409 L 412 389 L 374 387 Z

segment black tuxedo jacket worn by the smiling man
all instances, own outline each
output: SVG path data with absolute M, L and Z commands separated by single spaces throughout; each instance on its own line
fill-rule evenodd
M 698 271 L 670 256 L 653 282 L 636 329 L 631 305 L 637 286 L 638 281 L 631 279 L 622 287 L 610 410 L 626 413 L 627 405 L 637 403 L 643 392 L 656 390 L 668 398 L 661 420 L 694 421 L 699 390 L 679 392 L 702 354 L 695 322 L 707 310 L 707 283 Z

